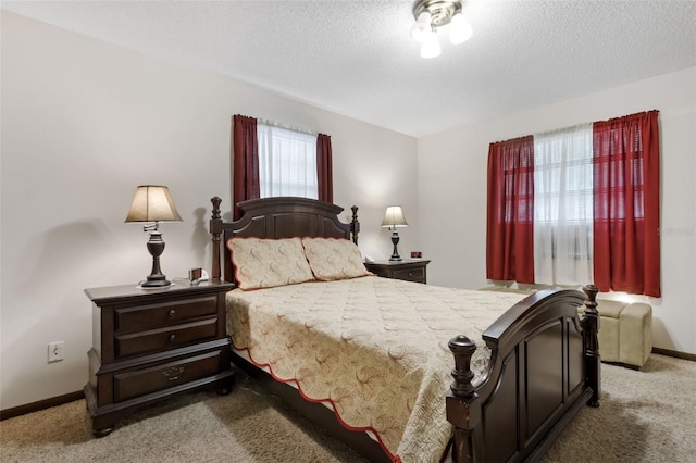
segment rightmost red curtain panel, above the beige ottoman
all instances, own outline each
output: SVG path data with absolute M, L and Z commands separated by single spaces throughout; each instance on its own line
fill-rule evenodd
M 660 297 L 658 111 L 597 122 L 593 132 L 595 285 Z

